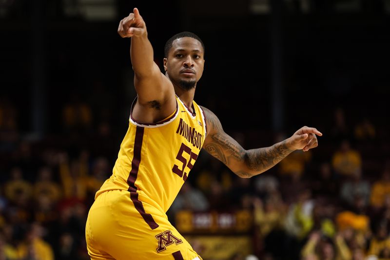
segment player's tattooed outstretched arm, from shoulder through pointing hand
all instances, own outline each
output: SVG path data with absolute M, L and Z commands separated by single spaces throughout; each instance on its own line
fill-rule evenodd
M 202 109 L 205 113 L 208 131 L 203 148 L 242 178 L 250 178 L 267 171 L 294 150 L 308 151 L 317 147 L 316 135 L 322 136 L 317 129 L 304 126 L 292 137 L 270 147 L 245 150 L 223 131 L 219 119 L 213 112 L 204 107 Z

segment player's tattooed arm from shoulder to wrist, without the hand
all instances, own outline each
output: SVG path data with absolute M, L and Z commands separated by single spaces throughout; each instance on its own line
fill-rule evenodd
M 247 170 L 235 171 L 235 174 L 239 177 L 248 178 L 262 173 L 272 168 L 292 152 L 287 147 L 285 140 L 270 147 L 246 151 L 237 141 L 223 131 L 220 121 L 213 112 L 207 108 L 203 108 L 203 110 L 212 140 L 208 141 L 204 148 L 228 167 L 235 166 L 234 168 L 237 168 L 237 165 L 242 164 L 243 167 L 240 168 Z

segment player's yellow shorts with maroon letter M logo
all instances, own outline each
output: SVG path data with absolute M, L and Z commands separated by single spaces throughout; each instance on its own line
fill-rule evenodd
M 137 207 L 125 190 L 106 191 L 98 196 L 85 227 L 92 260 L 201 260 L 166 214 L 143 202 Z M 140 207 L 153 217 L 153 229 L 145 214 L 141 216 Z

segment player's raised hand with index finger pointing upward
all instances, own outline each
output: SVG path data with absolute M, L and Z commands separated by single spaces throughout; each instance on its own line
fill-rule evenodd
M 146 34 L 146 24 L 138 9 L 134 8 L 133 12 L 119 22 L 118 34 L 122 38 L 139 37 Z

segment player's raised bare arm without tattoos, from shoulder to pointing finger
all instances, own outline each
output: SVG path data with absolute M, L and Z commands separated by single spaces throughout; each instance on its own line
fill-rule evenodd
M 122 38 L 131 38 L 130 57 L 137 91 L 133 117 L 143 122 L 164 119 L 176 109 L 175 90 L 171 81 L 154 62 L 146 24 L 137 8 L 119 22 L 118 34 Z

